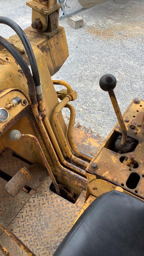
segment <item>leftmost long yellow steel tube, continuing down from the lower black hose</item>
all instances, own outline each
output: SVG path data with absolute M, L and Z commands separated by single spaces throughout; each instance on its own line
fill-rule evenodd
M 32 105 L 32 110 L 33 110 L 33 114 L 34 114 L 35 120 L 37 122 L 37 125 L 38 125 L 38 127 L 39 127 L 39 129 L 40 129 L 40 131 L 42 133 L 43 139 L 44 139 L 44 141 L 46 143 L 46 146 L 47 146 L 47 148 L 49 150 L 49 153 L 50 153 L 50 155 L 52 157 L 53 164 L 55 165 L 57 171 L 60 170 L 61 172 L 66 173 L 69 176 L 77 179 L 81 183 L 82 187 L 84 187 L 84 185 L 87 185 L 88 181 L 87 181 L 86 178 L 81 177 L 80 175 L 78 175 L 76 173 L 73 173 L 72 171 L 66 169 L 65 167 L 63 167 L 60 164 L 60 162 L 59 162 L 59 160 L 57 158 L 57 155 L 55 153 L 55 150 L 53 148 L 53 145 L 52 145 L 52 143 L 51 143 L 51 141 L 50 141 L 50 139 L 48 137 L 48 134 L 47 134 L 47 132 L 45 130 L 45 126 L 44 126 L 43 122 L 42 121 L 38 121 L 37 118 L 36 118 L 39 115 L 38 110 L 37 110 L 37 106 L 33 106 Z

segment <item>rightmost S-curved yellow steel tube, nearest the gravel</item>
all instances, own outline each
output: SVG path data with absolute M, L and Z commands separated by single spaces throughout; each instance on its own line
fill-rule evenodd
M 67 137 L 68 137 L 68 142 L 72 148 L 72 150 L 80 155 L 81 157 L 84 157 L 85 159 L 91 161 L 93 158 L 91 155 L 79 150 L 74 142 L 73 139 L 73 131 L 74 131 L 74 124 L 75 124 L 75 116 L 76 116 L 76 111 L 75 108 L 72 104 L 67 103 L 65 105 L 65 108 L 68 108 L 70 110 L 70 119 L 69 119 L 69 125 L 68 125 L 68 131 L 67 131 Z

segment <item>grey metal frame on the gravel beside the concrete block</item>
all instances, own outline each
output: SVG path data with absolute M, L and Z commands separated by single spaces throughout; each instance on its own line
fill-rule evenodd
M 59 15 L 58 20 L 66 19 L 66 18 L 68 18 L 68 17 L 70 17 L 70 16 L 72 16 L 72 15 L 74 15 L 74 14 L 83 12 L 83 11 L 85 11 L 85 10 L 88 9 L 88 8 L 86 9 L 86 8 L 81 7 L 81 8 L 79 8 L 79 9 L 76 9 L 76 10 L 72 11 L 72 12 L 66 13 L 65 7 L 70 8 L 70 7 L 67 5 L 67 0 L 58 0 L 58 2 L 59 2 L 59 4 L 61 4 L 61 13 L 60 13 L 60 15 Z

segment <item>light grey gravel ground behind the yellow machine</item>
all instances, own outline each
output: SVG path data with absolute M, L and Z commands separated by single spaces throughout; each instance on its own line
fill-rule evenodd
M 25 2 L 0 3 L 0 15 L 27 27 L 31 10 Z M 78 7 L 77 2 L 68 4 L 70 10 Z M 84 19 L 83 28 L 74 29 L 66 20 L 60 22 L 66 31 L 69 58 L 53 79 L 66 80 L 77 91 L 78 98 L 72 102 L 76 122 L 100 136 L 106 137 L 117 121 L 108 93 L 99 87 L 103 74 L 111 73 L 117 78 L 115 94 L 122 113 L 133 98 L 144 100 L 143 13 L 142 0 L 116 0 L 78 14 Z M 4 37 L 13 34 L 3 25 L 0 30 Z M 63 113 L 69 116 L 68 110 Z

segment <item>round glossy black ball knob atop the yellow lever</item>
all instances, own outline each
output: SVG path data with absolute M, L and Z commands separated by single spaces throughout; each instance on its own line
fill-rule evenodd
M 99 80 L 100 88 L 106 92 L 114 90 L 116 87 L 116 84 L 117 84 L 117 80 L 111 74 L 106 74 L 102 76 Z

